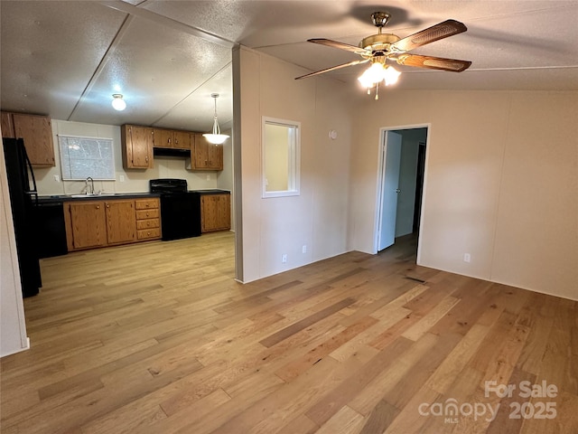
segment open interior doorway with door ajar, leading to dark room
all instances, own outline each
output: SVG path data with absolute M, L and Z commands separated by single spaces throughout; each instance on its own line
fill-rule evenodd
M 387 249 L 400 237 L 413 236 L 416 241 L 419 237 L 427 133 L 428 126 L 381 132 L 376 251 Z

